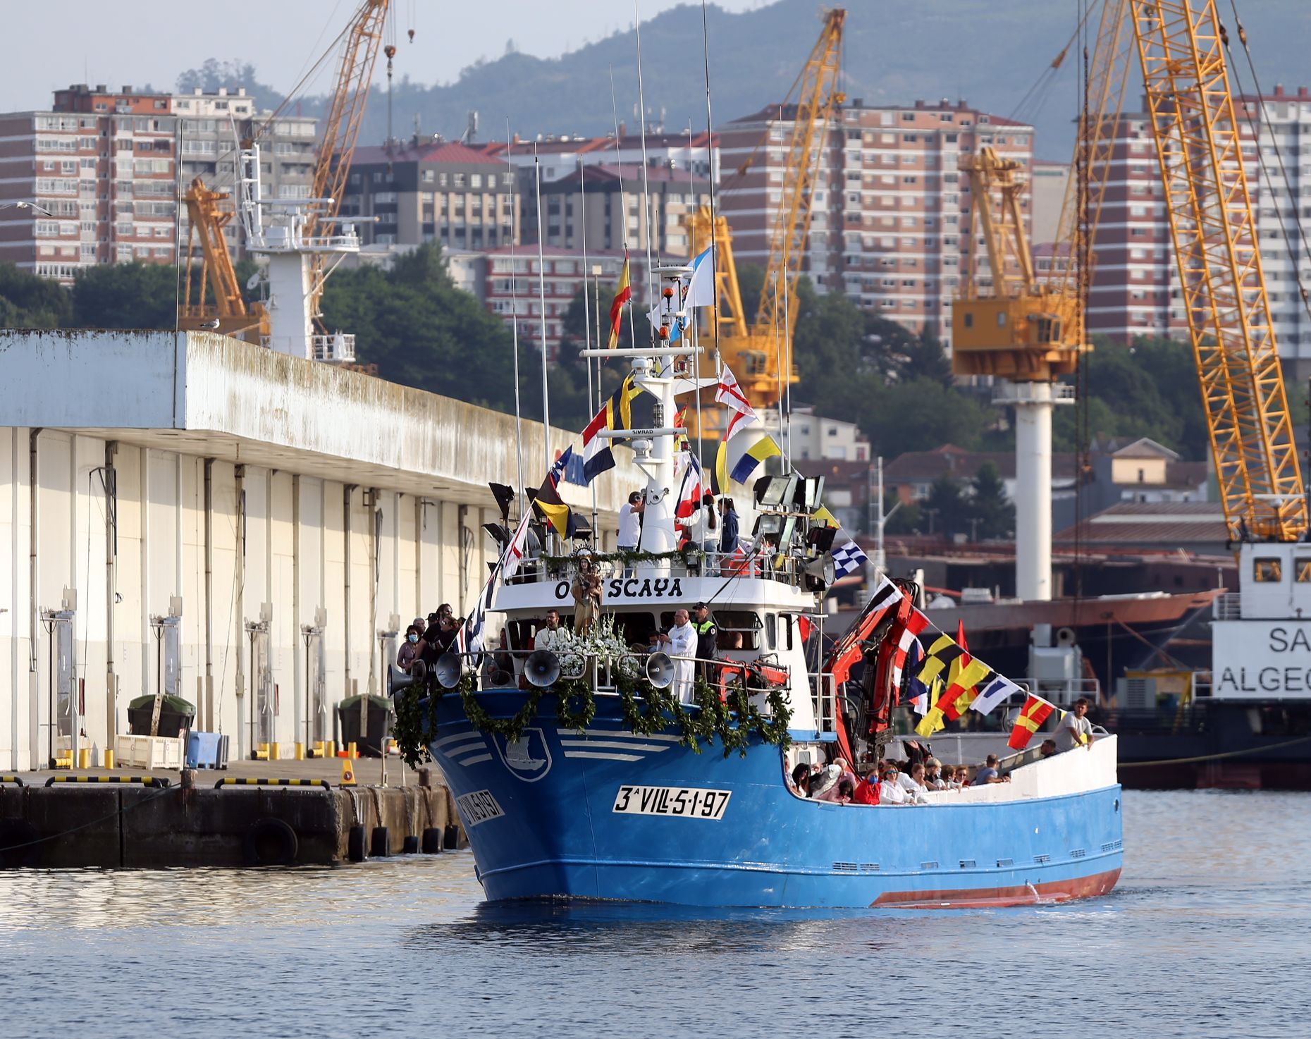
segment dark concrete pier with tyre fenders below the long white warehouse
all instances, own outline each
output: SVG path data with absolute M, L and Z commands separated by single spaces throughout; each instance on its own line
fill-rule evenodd
M 151 778 L 66 773 L 46 786 L 46 775 L 29 773 L 18 786 L 5 777 L 0 867 L 328 866 L 464 844 L 440 784 L 216 787 L 228 773 L 199 771 L 190 786 L 177 773 L 159 774 L 168 786 L 147 786 L 111 775 Z M 260 778 L 305 782 L 237 782 Z

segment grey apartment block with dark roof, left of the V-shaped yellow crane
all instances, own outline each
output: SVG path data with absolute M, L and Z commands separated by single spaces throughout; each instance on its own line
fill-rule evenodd
M 531 172 L 530 172 L 531 176 Z M 538 240 L 535 185 L 523 185 L 523 240 Z M 659 258 L 692 256 L 688 220 L 709 205 L 707 180 L 669 167 L 586 165 L 541 185 L 541 236 L 547 245 L 587 252 L 646 256 L 648 243 Z M 707 245 L 709 243 L 705 243 Z

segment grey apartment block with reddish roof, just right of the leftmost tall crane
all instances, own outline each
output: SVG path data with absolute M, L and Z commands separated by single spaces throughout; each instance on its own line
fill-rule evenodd
M 364 245 L 439 241 L 456 251 L 490 251 L 520 240 L 518 174 L 477 148 L 410 139 L 359 147 L 342 195 L 343 216 L 366 218 Z

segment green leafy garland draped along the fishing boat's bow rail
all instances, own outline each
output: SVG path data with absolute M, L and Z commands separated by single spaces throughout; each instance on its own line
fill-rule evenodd
M 657 689 L 645 677 L 629 678 L 619 673 L 616 678 L 624 725 L 638 736 L 652 736 L 673 724 L 679 729 L 679 743 L 683 746 L 699 754 L 701 744 L 713 746 L 718 739 L 724 757 L 734 750 L 746 757 L 753 733 L 762 743 L 773 744 L 784 750 L 792 744 L 788 733 L 792 707 L 781 686 L 773 686 L 766 694 L 766 702 L 770 704 L 770 715 L 766 716 L 751 703 L 751 691 L 742 682 L 729 686 L 725 703 L 704 678 L 697 677 L 694 699 L 700 710 L 687 711 L 671 689 Z M 507 743 L 514 743 L 523 735 L 523 729 L 538 716 L 541 698 L 548 694 L 556 697 L 556 718 L 561 728 L 585 733 L 597 716 L 597 694 L 583 678 L 562 678 L 551 689 L 527 689 L 523 706 L 511 718 L 493 718 L 488 712 L 479 701 L 471 674 L 463 676 L 455 689 L 443 689 L 434 683 L 426 691 L 429 695 L 426 724 L 422 707 L 425 690 L 418 686 L 405 690 L 396 704 L 396 719 L 392 723 L 392 736 L 401 760 L 412 769 L 431 761 L 427 748 L 437 739 L 437 704 L 447 693 L 460 697 L 464 715 L 473 728 L 496 733 Z M 642 701 L 641 706 L 638 698 Z

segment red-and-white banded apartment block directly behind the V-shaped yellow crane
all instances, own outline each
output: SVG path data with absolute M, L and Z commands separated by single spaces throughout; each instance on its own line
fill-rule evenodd
M 783 206 L 796 110 L 772 106 L 720 130 L 720 210 L 738 262 L 764 264 Z M 856 98 L 822 132 L 805 272 L 819 291 L 950 342 L 950 302 L 970 255 L 969 185 L 960 160 L 990 144 L 1033 168 L 1033 127 L 965 101 L 867 105 Z M 1025 202 L 1028 206 L 1028 202 Z M 1027 214 L 1028 219 L 1028 214 Z M 981 245 L 982 243 L 979 243 Z

